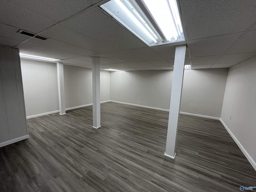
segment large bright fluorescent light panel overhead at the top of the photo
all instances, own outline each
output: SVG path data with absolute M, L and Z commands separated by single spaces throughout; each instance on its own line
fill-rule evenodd
M 176 0 L 110 0 L 100 8 L 148 46 L 185 41 Z

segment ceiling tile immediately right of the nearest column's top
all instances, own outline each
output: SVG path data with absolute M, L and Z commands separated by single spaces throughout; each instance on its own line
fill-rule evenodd
M 242 33 L 190 40 L 191 57 L 222 55 Z

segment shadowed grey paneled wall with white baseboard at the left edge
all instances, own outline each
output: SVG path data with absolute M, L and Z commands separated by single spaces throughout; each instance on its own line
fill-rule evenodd
M 19 50 L 0 46 L 0 147 L 28 137 Z

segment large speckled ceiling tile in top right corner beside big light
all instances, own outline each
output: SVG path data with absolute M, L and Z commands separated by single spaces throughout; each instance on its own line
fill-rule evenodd
M 256 18 L 255 0 L 184 0 L 189 40 L 246 31 Z

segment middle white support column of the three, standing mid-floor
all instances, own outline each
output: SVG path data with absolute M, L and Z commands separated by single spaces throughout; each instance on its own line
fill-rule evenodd
M 100 58 L 92 57 L 92 119 L 93 128 L 100 128 Z

